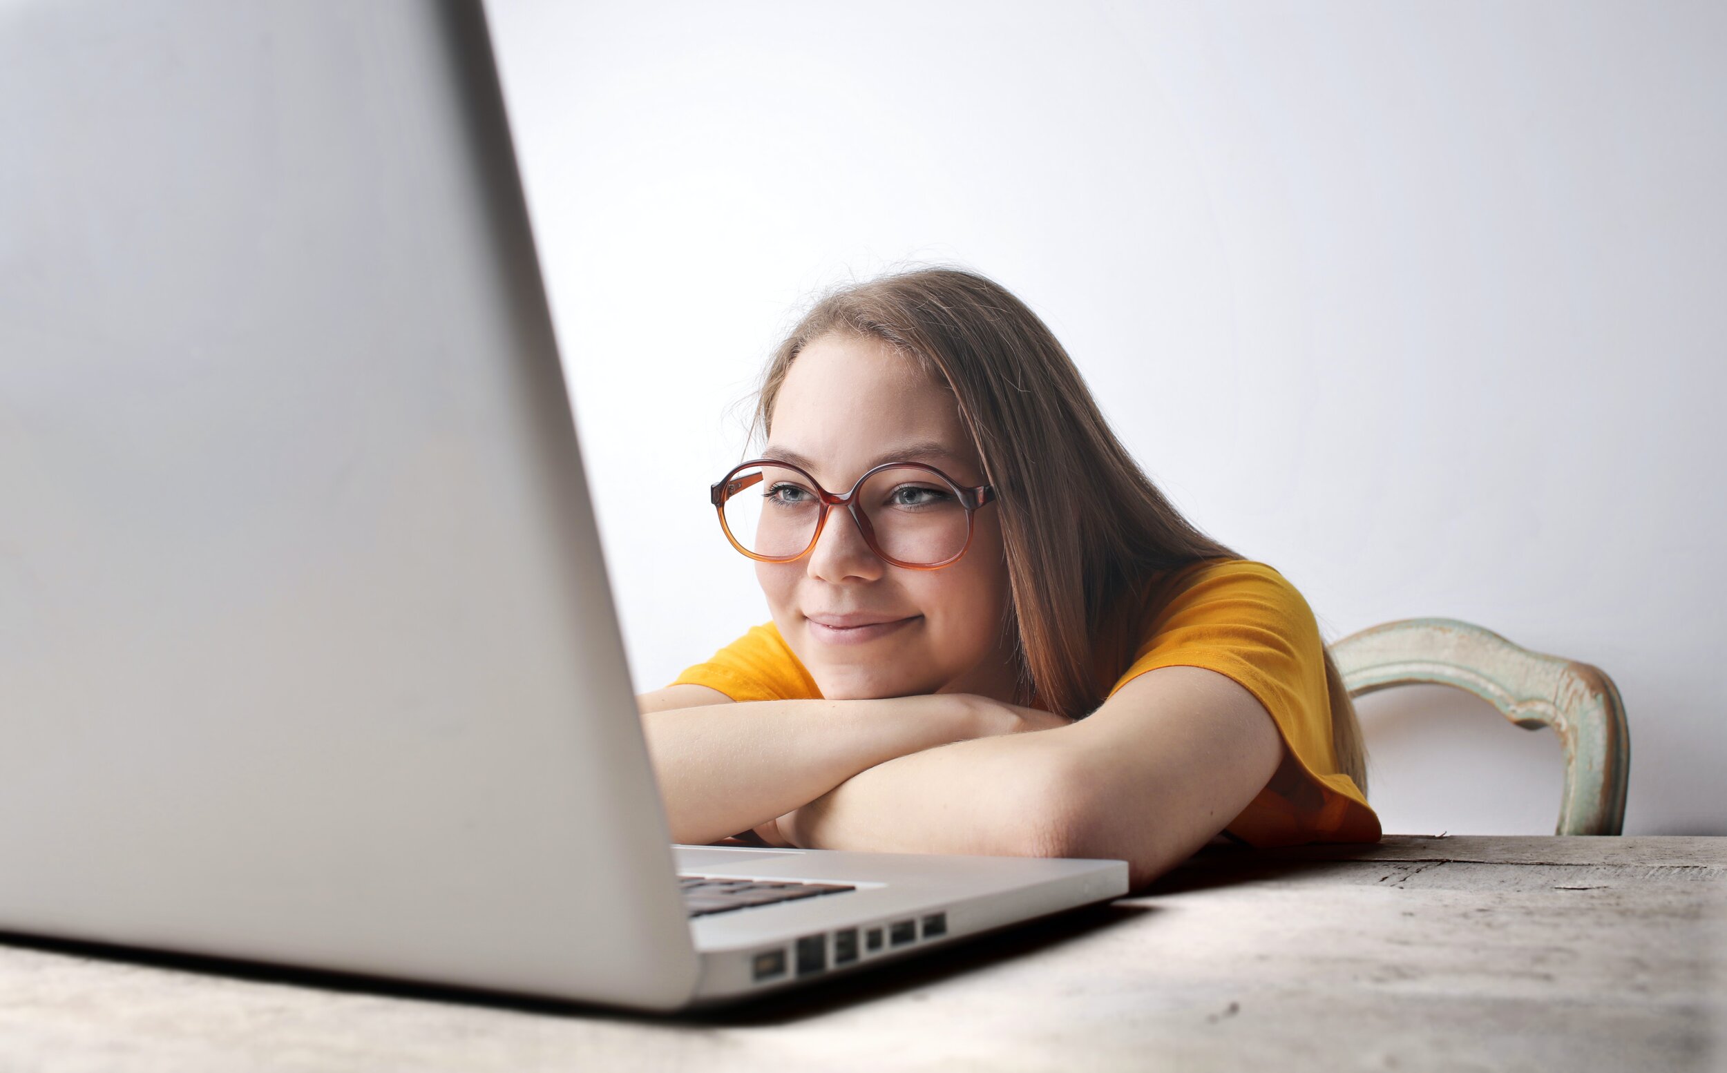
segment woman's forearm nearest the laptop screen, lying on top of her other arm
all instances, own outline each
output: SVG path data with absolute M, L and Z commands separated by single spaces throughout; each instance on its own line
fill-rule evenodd
M 1055 721 L 960 693 L 732 704 L 718 690 L 682 685 L 637 704 L 672 840 L 686 844 L 770 823 L 895 757 Z

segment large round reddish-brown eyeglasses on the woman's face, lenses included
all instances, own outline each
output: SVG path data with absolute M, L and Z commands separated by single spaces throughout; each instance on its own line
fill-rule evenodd
M 732 547 L 762 562 L 801 559 L 822 535 L 827 511 L 845 507 L 884 562 L 936 569 L 971 547 L 972 514 L 995 499 L 995 488 L 960 485 L 922 462 L 886 462 L 836 495 L 791 462 L 755 459 L 734 466 L 710 499 Z

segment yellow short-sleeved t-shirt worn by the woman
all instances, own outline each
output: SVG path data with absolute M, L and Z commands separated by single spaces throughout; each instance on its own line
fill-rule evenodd
M 1238 681 L 1278 726 L 1287 756 L 1271 783 L 1230 821 L 1250 845 L 1378 842 L 1380 819 L 1337 769 L 1319 624 L 1300 592 L 1252 559 L 1200 559 L 1150 588 L 1126 669 L 1105 668 L 1109 695 L 1157 668 L 1205 668 Z M 750 628 L 674 685 L 732 700 L 815 700 L 820 688 L 772 624 Z

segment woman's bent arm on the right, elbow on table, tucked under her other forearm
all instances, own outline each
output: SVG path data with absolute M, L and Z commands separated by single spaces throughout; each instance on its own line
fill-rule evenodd
M 1235 819 L 1281 757 L 1271 714 L 1240 683 L 1159 668 L 1071 726 L 870 768 L 777 831 L 820 849 L 1110 857 L 1143 887 Z

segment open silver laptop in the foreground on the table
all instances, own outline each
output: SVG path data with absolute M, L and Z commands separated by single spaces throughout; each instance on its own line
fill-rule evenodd
M 1126 892 L 668 845 L 478 5 L 10 3 L 0 147 L 0 932 L 675 1009 Z

